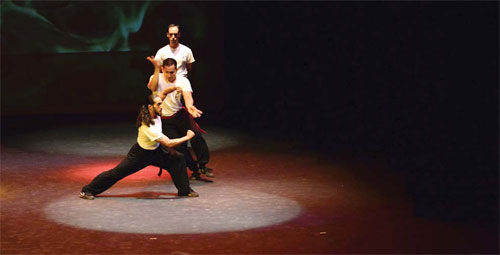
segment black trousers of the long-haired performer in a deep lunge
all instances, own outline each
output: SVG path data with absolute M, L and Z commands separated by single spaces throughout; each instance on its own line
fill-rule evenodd
M 190 192 L 189 180 L 186 172 L 186 161 L 182 153 L 171 150 L 163 150 L 158 147 L 156 150 L 145 150 L 134 144 L 120 164 L 115 168 L 104 171 L 97 175 L 91 183 L 85 185 L 82 190 L 90 192 L 93 195 L 100 194 L 109 189 L 119 180 L 139 171 L 143 168 L 153 165 L 166 169 L 179 195 L 187 195 Z

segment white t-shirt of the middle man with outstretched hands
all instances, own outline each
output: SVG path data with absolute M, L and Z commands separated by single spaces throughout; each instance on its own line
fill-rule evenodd
M 151 81 L 152 78 L 153 78 L 153 76 L 151 75 L 149 80 Z M 173 83 L 170 83 L 165 78 L 165 76 L 163 76 L 163 74 L 160 73 L 160 75 L 158 77 L 157 93 L 160 93 L 164 89 L 172 87 L 172 86 L 180 87 L 182 89 L 182 91 L 193 92 L 193 89 L 191 88 L 191 83 L 189 82 L 189 80 L 187 78 L 182 77 L 182 76 L 177 76 L 175 81 Z M 167 94 L 167 96 L 165 97 L 165 99 L 161 103 L 161 108 L 162 108 L 161 115 L 165 116 L 165 117 L 169 117 L 169 116 L 174 115 L 176 112 L 178 112 L 182 108 L 181 98 L 182 98 L 181 92 L 174 91 L 172 93 Z

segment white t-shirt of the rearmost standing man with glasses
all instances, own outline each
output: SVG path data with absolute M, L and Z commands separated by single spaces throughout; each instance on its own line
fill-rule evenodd
M 167 45 L 156 52 L 155 60 L 163 63 L 163 60 L 173 58 L 177 61 L 177 76 L 187 77 L 187 64 L 194 63 L 193 52 L 187 46 L 180 44 L 172 51 L 170 45 Z

